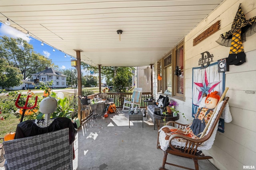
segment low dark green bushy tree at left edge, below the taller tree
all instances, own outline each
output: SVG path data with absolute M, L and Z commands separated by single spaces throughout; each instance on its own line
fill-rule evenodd
M 22 84 L 22 74 L 18 68 L 10 66 L 4 59 L 0 58 L 0 86 L 5 87 L 19 86 Z

